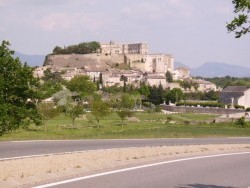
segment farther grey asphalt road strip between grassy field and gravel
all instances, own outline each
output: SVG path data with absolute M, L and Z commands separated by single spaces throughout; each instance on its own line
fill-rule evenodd
M 74 140 L 0 142 L 0 160 L 4 158 L 74 152 L 110 148 L 199 145 L 250 144 L 249 138 L 197 138 L 197 139 L 129 139 L 129 140 Z

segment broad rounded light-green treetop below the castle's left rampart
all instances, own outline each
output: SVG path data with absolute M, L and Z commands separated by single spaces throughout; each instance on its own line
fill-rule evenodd
M 90 95 L 96 91 L 96 85 L 90 81 L 86 75 L 75 76 L 67 83 L 67 88 L 72 92 L 77 92 L 81 97 Z

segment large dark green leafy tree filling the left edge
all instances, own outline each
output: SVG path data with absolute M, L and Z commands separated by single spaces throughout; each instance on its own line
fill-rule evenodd
M 41 123 L 36 105 L 37 79 L 32 68 L 14 58 L 10 43 L 0 45 L 0 135 L 19 128 L 24 121 Z

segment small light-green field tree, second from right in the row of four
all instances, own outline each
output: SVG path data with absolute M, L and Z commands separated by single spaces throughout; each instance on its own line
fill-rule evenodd
M 109 104 L 103 101 L 100 96 L 94 95 L 90 108 L 91 113 L 95 116 L 95 119 L 98 122 L 98 127 L 100 127 L 100 119 L 110 113 Z

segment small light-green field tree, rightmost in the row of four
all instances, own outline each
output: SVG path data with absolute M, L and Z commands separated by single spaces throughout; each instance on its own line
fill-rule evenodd
M 118 102 L 117 114 L 122 120 L 122 127 L 126 117 L 130 117 L 133 114 L 133 108 L 135 106 L 135 100 L 127 93 L 121 95 L 121 99 Z

